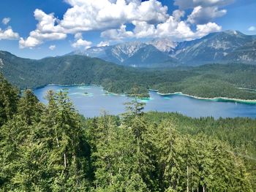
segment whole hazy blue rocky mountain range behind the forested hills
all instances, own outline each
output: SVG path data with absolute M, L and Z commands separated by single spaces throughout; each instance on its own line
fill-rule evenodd
M 136 67 L 198 66 L 212 63 L 256 64 L 256 36 L 240 31 L 222 31 L 185 42 L 168 38 L 149 42 L 124 42 L 105 47 L 76 50 L 68 55 L 102 58 Z

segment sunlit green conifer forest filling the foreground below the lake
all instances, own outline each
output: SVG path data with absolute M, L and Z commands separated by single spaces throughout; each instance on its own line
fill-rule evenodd
M 230 80 L 231 81 L 231 80 Z M 255 191 L 256 120 L 143 112 L 83 118 L 0 76 L 0 191 Z

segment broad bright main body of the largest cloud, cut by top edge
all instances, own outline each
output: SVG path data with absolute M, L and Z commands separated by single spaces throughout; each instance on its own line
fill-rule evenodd
M 72 5 L 64 14 L 60 26 L 69 33 L 79 31 L 118 28 L 132 20 L 148 23 L 163 22 L 167 19 L 167 7 L 157 0 L 67 0 Z

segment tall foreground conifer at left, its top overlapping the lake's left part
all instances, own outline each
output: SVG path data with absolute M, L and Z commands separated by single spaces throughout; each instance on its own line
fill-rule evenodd
M 78 113 L 69 101 L 67 92 L 48 93 L 48 115 L 52 120 L 45 120 L 53 142 L 52 163 L 55 164 L 57 176 L 54 179 L 53 191 L 67 188 L 86 188 L 86 157 L 80 156 L 83 130 Z M 50 127 L 50 128 L 49 128 Z M 83 153 L 84 154 L 84 153 Z M 72 178 L 72 182 L 71 182 Z M 83 180 L 80 180 L 83 178 Z M 84 182 L 85 181 L 85 182 Z M 75 185 L 74 185 L 75 184 Z

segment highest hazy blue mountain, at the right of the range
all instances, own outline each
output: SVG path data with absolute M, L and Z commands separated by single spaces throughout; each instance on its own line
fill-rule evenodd
M 173 57 L 188 65 L 226 62 L 227 55 L 252 42 L 252 36 L 239 31 L 223 31 L 194 41 L 180 42 Z M 228 61 L 237 60 L 230 57 Z

